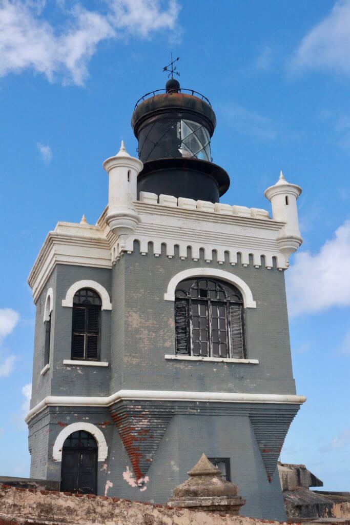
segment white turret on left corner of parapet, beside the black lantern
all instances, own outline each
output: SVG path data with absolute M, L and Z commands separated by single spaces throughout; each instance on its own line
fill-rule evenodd
M 143 163 L 129 155 L 122 141 L 119 152 L 105 160 L 103 167 L 109 175 L 107 224 L 116 236 L 130 234 L 140 222 L 133 201 Z

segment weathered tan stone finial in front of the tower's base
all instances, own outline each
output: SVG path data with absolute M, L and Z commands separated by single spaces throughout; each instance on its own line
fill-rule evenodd
M 210 512 L 239 513 L 246 500 L 238 495 L 238 487 L 222 478 L 220 470 L 205 454 L 187 472 L 189 479 L 174 489 L 169 507 L 185 507 Z

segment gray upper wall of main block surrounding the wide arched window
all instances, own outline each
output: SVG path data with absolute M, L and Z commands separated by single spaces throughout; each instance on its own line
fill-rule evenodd
M 248 358 L 259 364 L 166 361 L 175 354 L 174 303 L 164 300 L 169 280 L 193 268 L 217 268 L 243 279 L 257 308 L 245 311 Z M 111 392 L 119 388 L 294 394 L 284 274 L 273 268 L 219 265 L 203 259 L 145 256 L 135 249 L 113 267 L 112 296 L 122 298 L 119 274 L 124 276 L 124 305 L 113 326 L 112 344 L 123 348 L 123 375 L 113 370 Z M 115 277 L 114 277 L 115 276 Z M 125 315 L 124 315 L 125 313 Z M 124 333 L 121 324 L 124 317 Z M 118 327 L 118 328 L 117 328 Z M 114 335 L 113 335 L 114 334 Z M 119 335 L 118 335 L 119 334 Z M 114 337 L 114 339 L 113 339 Z M 113 343 L 114 341 L 114 343 Z M 121 351 L 118 352 L 121 360 Z M 122 382 L 121 382 L 122 377 Z

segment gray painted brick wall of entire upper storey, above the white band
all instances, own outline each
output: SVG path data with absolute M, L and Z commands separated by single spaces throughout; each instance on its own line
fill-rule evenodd
M 174 303 L 164 300 L 169 280 L 188 268 L 219 268 L 243 279 L 257 308 L 245 311 L 248 358 L 259 364 L 167 361 L 175 354 Z M 111 275 L 112 274 L 112 275 Z M 72 309 L 62 307 L 72 283 L 92 279 L 110 293 L 101 313 L 101 361 L 108 368 L 63 365 L 70 359 Z M 54 289 L 50 370 L 44 365 L 47 289 Z M 215 378 L 215 380 L 213 380 Z M 120 388 L 294 394 L 284 274 L 273 268 L 168 259 L 137 250 L 107 269 L 58 265 L 37 301 L 31 406 L 45 395 L 109 395 Z

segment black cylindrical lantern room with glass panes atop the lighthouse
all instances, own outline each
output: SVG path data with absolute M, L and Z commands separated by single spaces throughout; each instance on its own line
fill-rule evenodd
M 230 180 L 211 162 L 216 117 L 208 99 L 170 79 L 165 90 L 147 93 L 136 103 L 131 124 L 144 163 L 137 195 L 146 191 L 219 202 Z

